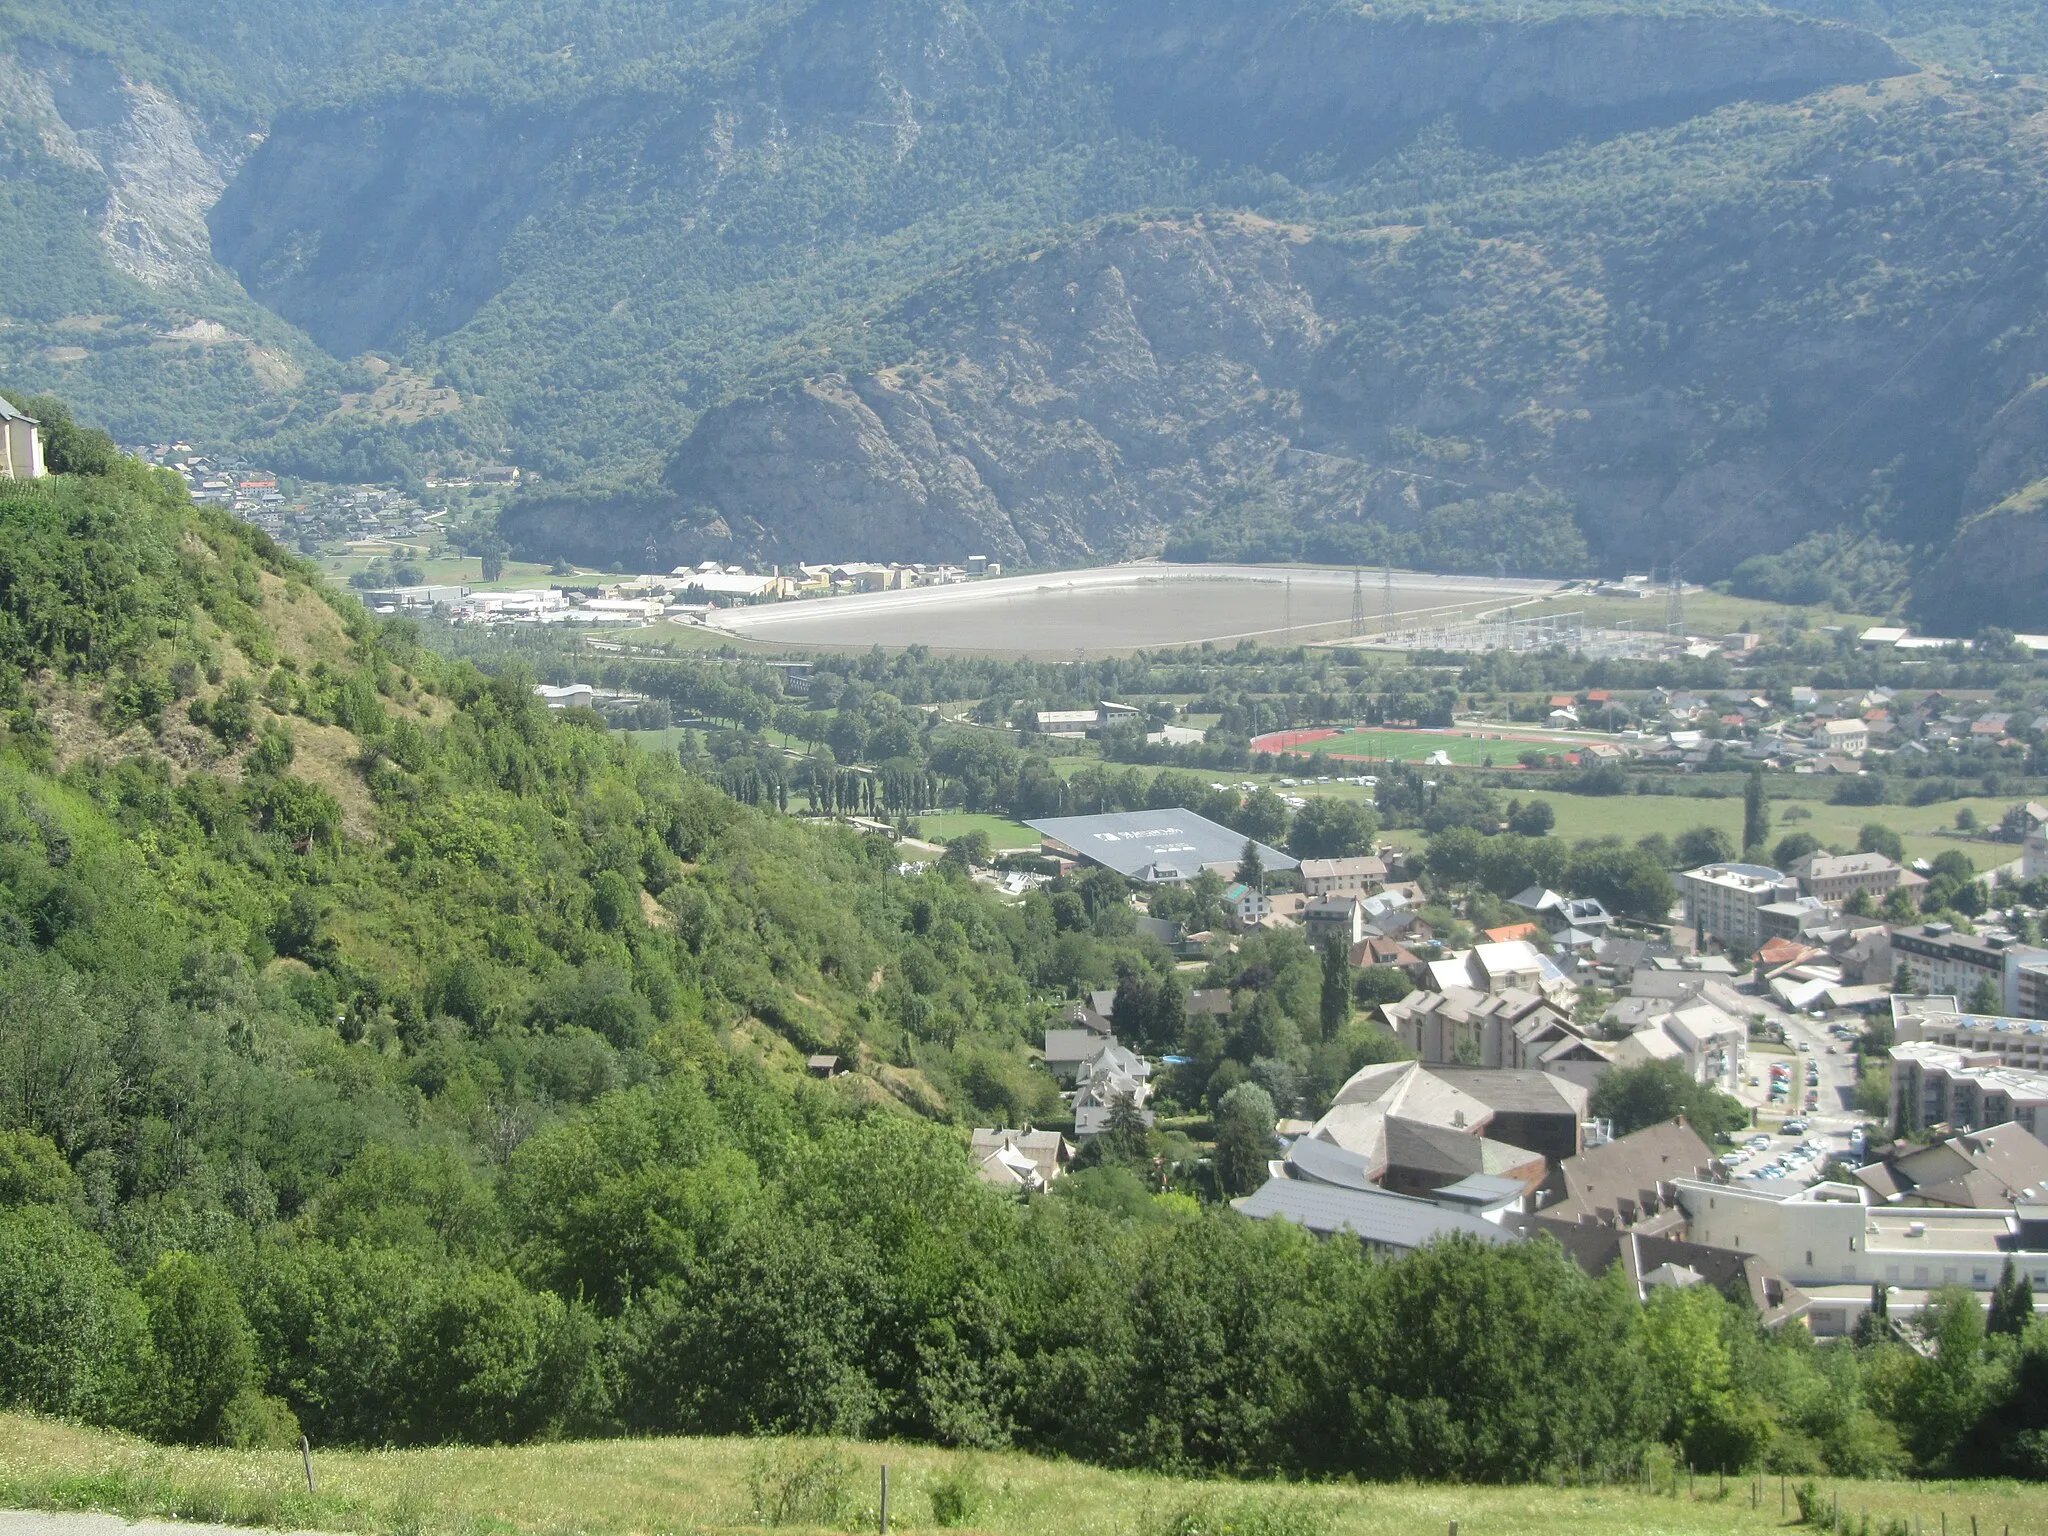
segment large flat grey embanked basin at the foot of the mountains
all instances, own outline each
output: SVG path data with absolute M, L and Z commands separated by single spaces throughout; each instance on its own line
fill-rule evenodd
M 1397 571 L 1399 623 L 1454 618 L 1550 592 L 1554 582 Z M 1378 578 L 1364 582 L 1366 629 L 1382 623 Z M 993 582 L 731 608 L 735 637 L 819 649 L 930 645 L 985 655 L 1108 655 L 1159 645 L 1266 645 L 1352 629 L 1352 571 L 1282 565 L 1110 565 Z

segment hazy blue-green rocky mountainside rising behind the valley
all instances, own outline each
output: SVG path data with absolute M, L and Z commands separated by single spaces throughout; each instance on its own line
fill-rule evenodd
M 1677 561 L 2040 627 L 2036 4 L 276 10 L 4 12 L 10 385 L 510 459 L 514 547 L 598 563 Z

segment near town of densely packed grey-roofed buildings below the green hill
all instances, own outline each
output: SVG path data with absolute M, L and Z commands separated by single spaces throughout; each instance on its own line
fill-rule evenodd
M 2013 891 L 2048 874 L 2048 807 L 2015 821 Z M 1047 1028 L 1071 1126 L 977 1130 L 991 1184 L 1044 1190 L 1098 1139 L 1208 1102 L 1229 1186 L 1253 1083 L 1272 1141 L 1233 1204 L 1325 1237 L 1550 1235 L 1642 1294 L 1712 1284 L 1817 1335 L 1911 1319 L 1942 1286 L 2048 1288 L 2048 948 L 2023 899 L 1974 934 L 1903 922 L 1925 874 L 1806 850 L 1702 864 L 1673 911 L 1616 913 L 1569 874 L 1491 899 L 1436 844 L 1294 858 L 1182 807 L 1032 825 L 1055 881 L 1122 883 L 1180 963 Z M 1235 956 L 1286 946 L 1317 956 L 1321 1016 L 1364 1059 L 1327 1096 L 1278 1053 L 1214 1065 L 1272 1004 L 1255 965 L 1231 985 Z

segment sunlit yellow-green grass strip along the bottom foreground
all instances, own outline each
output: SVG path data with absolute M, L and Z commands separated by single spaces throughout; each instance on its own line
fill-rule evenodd
M 319 1452 L 307 1495 L 297 1452 L 174 1450 L 27 1415 L 0 1415 L 0 1507 L 104 1509 L 285 1530 L 403 1536 L 641 1536 L 692 1528 L 874 1530 L 881 1464 L 891 1526 L 1004 1536 L 1460 1536 L 1786 1528 L 1778 1481 L 1702 1477 L 1675 1495 L 1548 1487 L 1290 1487 L 1104 1473 L 1018 1454 L 825 1440 L 610 1440 L 514 1450 Z M 1823 1483 L 1870 1530 L 1927 1536 L 2048 1532 L 2048 1489 L 2019 1483 Z M 1796 1505 L 1792 1505 L 1796 1518 Z M 1894 1526 L 1896 1530 L 1896 1526 Z

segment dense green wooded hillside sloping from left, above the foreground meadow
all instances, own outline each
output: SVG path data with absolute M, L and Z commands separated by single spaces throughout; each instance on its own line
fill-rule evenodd
M 1219 963 L 1255 995 L 1223 1038 L 1100 881 L 1001 903 L 741 805 L 104 440 L 53 457 L 0 485 L 0 1403 L 195 1444 L 2048 1475 L 2048 1323 L 2009 1309 L 1821 1348 L 1546 1241 L 1235 1217 L 1278 1067 L 1384 1049 L 1298 940 Z M 1057 1114 L 1024 1042 L 1118 975 L 1208 1073 L 1169 1092 L 1214 1163 L 1126 1122 L 1053 1196 L 979 1184 L 963 1126 Z

